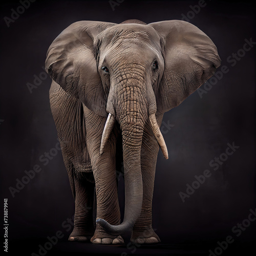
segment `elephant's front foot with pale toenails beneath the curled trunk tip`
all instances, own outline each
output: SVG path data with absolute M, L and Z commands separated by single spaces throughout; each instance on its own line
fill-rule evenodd
M 91 238 L 93 244 L 124 244 L 121 236 L 113 236 L 104 231 L 100 224 L 96 224 L 94 236 Z

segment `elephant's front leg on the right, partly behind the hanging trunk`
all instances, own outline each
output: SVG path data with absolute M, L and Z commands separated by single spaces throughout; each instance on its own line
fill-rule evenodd
M 158 124 L 162 116 L 157 119 Z M 148 125 L 147 125 L 148 127 Z M 141 174 L 143 180 L 143 201 L 140 218 L 134 225 L 131 241 L 137 244 L 152 244 L 161 242 L 152 228 L 152 199 L 156 172 L 158 143 L 154 134 L 145 129 L 141 147 Z

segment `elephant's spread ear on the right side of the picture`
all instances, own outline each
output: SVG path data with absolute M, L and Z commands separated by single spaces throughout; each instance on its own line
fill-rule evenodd
M 211 39 L 196 26 L 182 20 L 148 24 L 159 34 L 165 70 L 156 95 L 157 112 L 179 105 L 206 82 L 221 59 Z

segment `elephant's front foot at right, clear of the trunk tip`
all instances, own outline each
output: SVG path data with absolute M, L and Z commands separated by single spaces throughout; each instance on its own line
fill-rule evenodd
M 160 243 L 161 240 L 155 231 L 150 228 L 141 231 L 133 231 L 131 242 L 134 244 L 157 244 Z

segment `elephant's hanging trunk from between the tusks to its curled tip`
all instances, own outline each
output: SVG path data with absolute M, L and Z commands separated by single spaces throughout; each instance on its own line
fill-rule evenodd
M 125 127 L 126 126 L 126 127 Z M 110 234 L 120 235 L 127 230 L 132 230 L 140 216 L 143 185 L 140 166 L 140 151 L 143 128 L 136 124 L 125 123 L 122 126 L 123 138 L 123 166 L 125 185 L 124 219 L 120 225 L 113 226 L 104 220 L 97 222 Z

